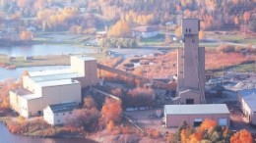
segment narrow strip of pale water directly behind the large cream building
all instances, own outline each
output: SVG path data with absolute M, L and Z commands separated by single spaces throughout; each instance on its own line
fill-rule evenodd
M 70 66 L 42 66 L 42 67 L 28 67 L 28 68 L 17 68 L 15 70 L 6 70 L 0 68 L 0 81 L 7 78 L 18 79 L 23 71 L 47 71 L 47 70 L 63 70 L 69 69 Z M 0 142 L 1 143 L 1 142 Z

